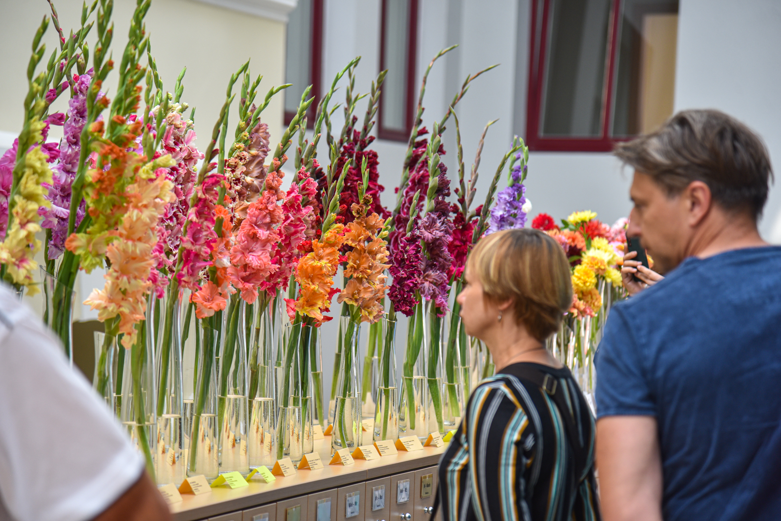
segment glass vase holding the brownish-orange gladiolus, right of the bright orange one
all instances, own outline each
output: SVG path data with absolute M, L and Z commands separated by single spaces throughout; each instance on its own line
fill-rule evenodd
M 358 345 L 361 323 L 352 317 L 340 317 L 342 353 L 333 409 L 331 452 L 363 445 L 361 423 L 361 374 L 358 370 Z

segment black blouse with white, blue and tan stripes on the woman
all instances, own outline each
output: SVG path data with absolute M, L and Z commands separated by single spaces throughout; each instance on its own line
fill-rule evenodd
M 566 367 L 536 363 L 558 381 L 589 448 L 576 477 L 565 424 L 537 385 L 510 374 L 487 378 L 439 464 L 444 521 L 601 519 L 594 480 L 594 416 Z

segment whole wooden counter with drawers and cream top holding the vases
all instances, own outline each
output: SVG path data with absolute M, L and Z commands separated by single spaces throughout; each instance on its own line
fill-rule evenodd
M 315 441 L 315 451 L 323 463 L 330 461 L 330 444 L 330 436 Z M 271 483 L 258 476 L 249 480 L 248 487 L 230 489 L 221 486 L 212 487 L 209 494 L 182 494 L 182 501 L 174 503 L 170 509 L 175 521 L 326 521 L 324 513 L 327 521 L 398 521 L 399 515 L 408 521 L 427 521 L 433 494 L 428 495 L 430 491 L 426 487 L 430 485 L 436 491 L 437 473 L 433 467 L 439 463 L 446 446 L 399 451 L 398 455 L 387 455 L 374 461 L 355 459 L 355 464 L 349 466 L 326 464 L 319 470 L 298 470 L 290 477 L 277 476 Z M 421 476 L 418 477 L 415 471 Z M 409 502 L 397 505 L 398 481 L 402 480 L 399 490 L 405 486 L 402 478 L 409 480 Z M 375 494 L 379 494 L 378 487 L 381 485 L 386 485 L 382 488 L 384 506 L 373 510 L 369 496 L 373 494 L 373 489 L 376 489 Z M 357 514 L 343 505 L 347 498 L 355 497 L 350 494 L 356 493 L 360 495 Z M 327 512 L 330 515 L 323 508 L 318 508 L 323 507 L 326 501 L 329 502 Z M 294 506 L 300 508 L 291 510 Z M 396 512 L 399 508 L 405 512 Z M 345 512 L 350 516 L 346 516 Z M 410 516 L 407 518 L 405 514 Z

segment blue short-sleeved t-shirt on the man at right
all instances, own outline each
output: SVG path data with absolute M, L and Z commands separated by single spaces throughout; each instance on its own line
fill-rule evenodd
M 781 519 L 781 247 L 690 257 L 616 305 L 597 417 L 654 416 L 668 521 Z

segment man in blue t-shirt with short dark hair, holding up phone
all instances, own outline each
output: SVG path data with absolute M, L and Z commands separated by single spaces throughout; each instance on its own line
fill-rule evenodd
M 781 248 L 757 230 L 765 146 L 693 110 L 615 154 L 635 169 L 627 232 L 665 278 L 612 310 L 597 353 L 604 519 L 781 519 Z

